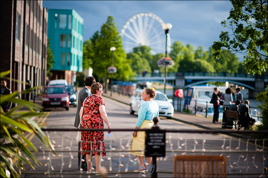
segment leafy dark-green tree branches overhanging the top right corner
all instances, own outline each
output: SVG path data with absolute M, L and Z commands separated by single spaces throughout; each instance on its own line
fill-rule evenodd
M 235 53 L 247 52 L 242 64 L 248 73 L 261 74 L 267 69 L 267 2 L 231 1 L 233 8 L 228 21 L 221 22 L 224 27 L 230 28 L 230 34 L 228 31 L 222 31 L 220 41 L 212 45 L 217 59 L 222 49 Z

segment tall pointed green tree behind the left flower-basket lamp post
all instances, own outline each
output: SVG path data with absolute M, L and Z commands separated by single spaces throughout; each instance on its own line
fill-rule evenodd
M 121 36 L 112 16 L 108 16 L 100 32 L 95 32 L 91 42 L 94 56 L 92 58 L 93 75 L 98 81 L 106 82 L 106 79 L 110 77 L 107 72 L 107 68 L 112 64 L 110 47 L 116 47 L 113 55 L 113 66 L 117 68 L 117 72 L 113 74 L 113 78 L 116 80 L 130 80 L 133 76 L 130 61 L 126 59 Z

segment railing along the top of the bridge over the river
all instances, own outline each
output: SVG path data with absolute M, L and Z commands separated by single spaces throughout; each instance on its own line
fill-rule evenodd
M 164 73 L 146 73 L 146 74 L 140 74 L 138 73 L 136 77 L 164 77 Z M 252 74 L 239 74 L 239 73 L 213 73 L 213 72 L 172 72 L 167 73 L 168 77 L 172 76 L 213 76 L 213 77 L 247 77 L 247 78 L 254 78 L 255 76 Z M 266 77 L 267 76 L 260 76 L 260 77 Z

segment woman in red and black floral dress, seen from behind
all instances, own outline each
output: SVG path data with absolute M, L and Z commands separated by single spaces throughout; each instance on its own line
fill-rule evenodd
M 104 100 L 101 97 L 103 92 L 102 85 L 97 82 L 91 85 L 91 96 L 88 96 L 84 102 L 84 115 L 82 119 L 82 128 L 104 128 L 103 121 L 111 129 L 111 124 L 105 112 Z M 82 114 L 82 107 L 80 110 Z M 110 133 L 111 131 L 108 131 Z M 82 150 L 91 150 L 92 153 L 83 152 L 86 155 L 88 165 L 87 173 L 95 173 L 91 169 L 92 156 L 95 156 L 96 174 L 99 174 L 102 156 L 106 156 L 103 131 L 82 131 L 81 133 Z M 103 151 L 103 152 L 98 152 Z

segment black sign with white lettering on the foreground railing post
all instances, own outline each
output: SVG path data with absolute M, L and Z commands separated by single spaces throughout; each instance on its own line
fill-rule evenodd
M 153 121 L 155 124 L 152 130 L 146 131 L 145 156 L 152 157 L 152 165 L 155 165 L 155 171 L 151 175 L 152 177 L 157 177 L 156 157 L 165 157 L 166 132 L 159 130 L 157 117 L 154 117 Z

